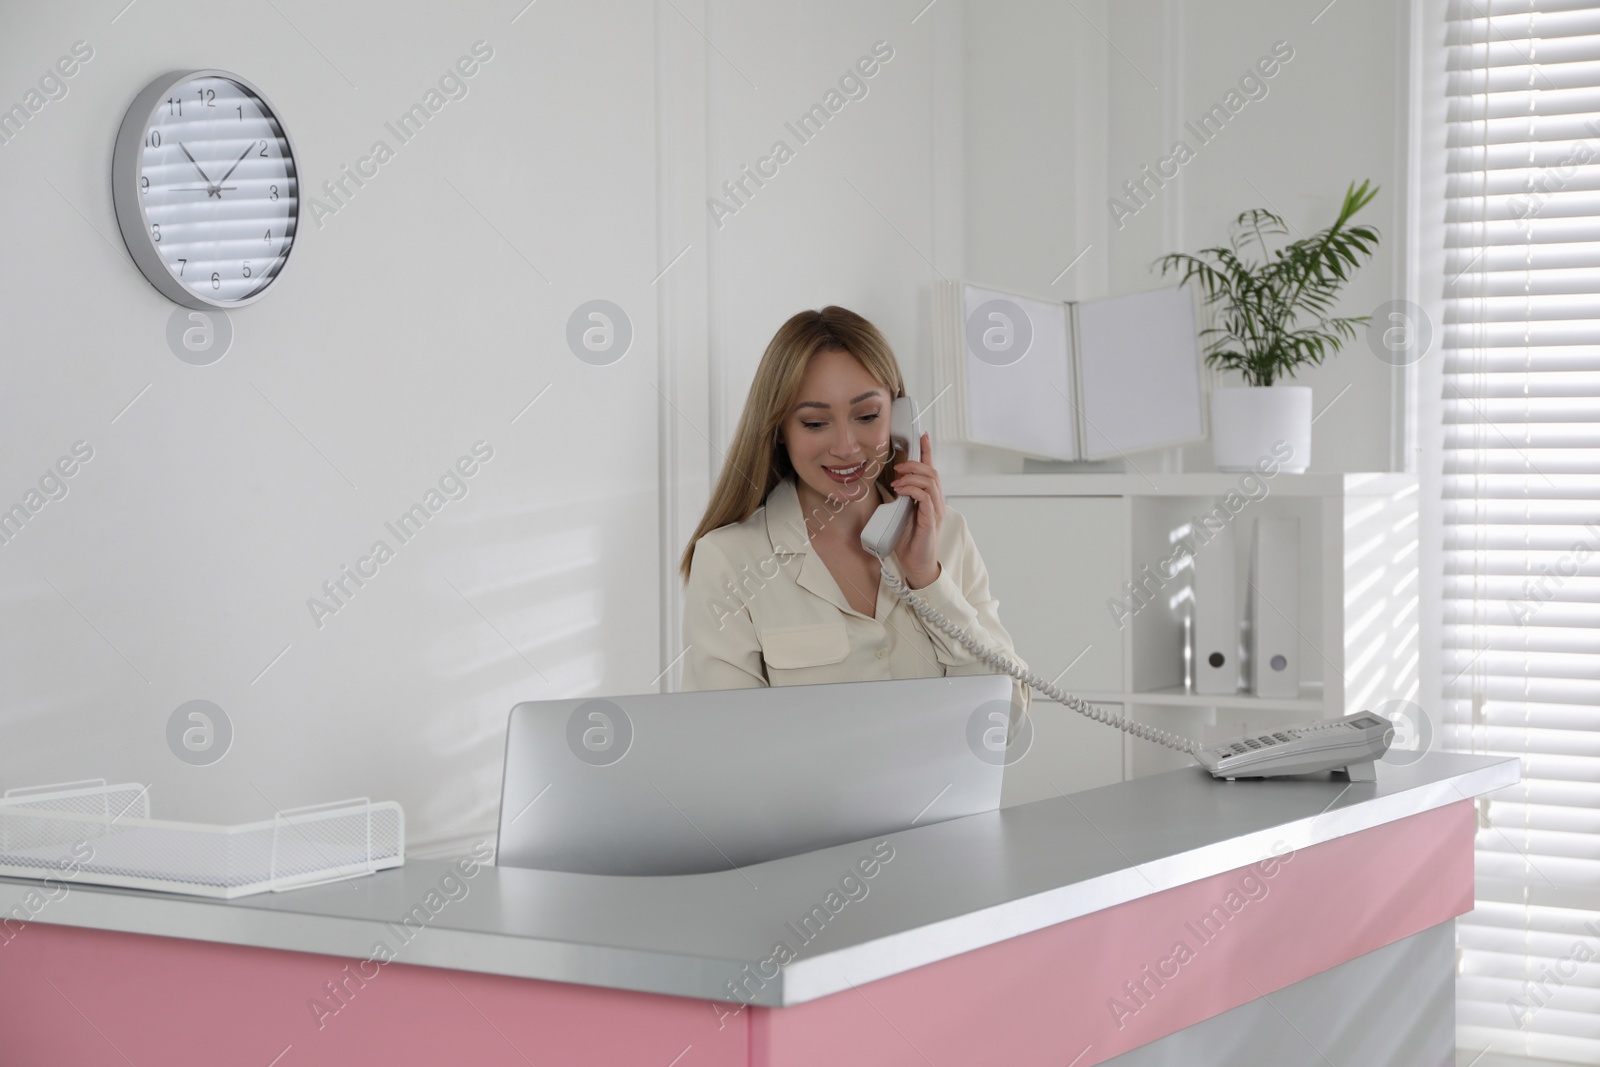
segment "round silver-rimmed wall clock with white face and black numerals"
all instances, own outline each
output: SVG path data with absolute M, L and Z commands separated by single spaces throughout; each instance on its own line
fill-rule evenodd
M 294 246 L 288 130 L 237 74 L 162 75 L 117 131 L 112 200 L 128 253 L 162 294 L 202 310 L 242 307 L 261 299 Z

